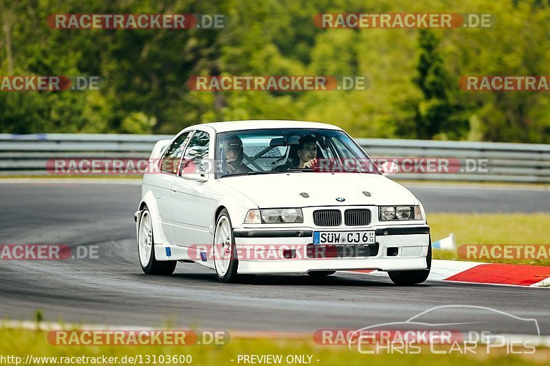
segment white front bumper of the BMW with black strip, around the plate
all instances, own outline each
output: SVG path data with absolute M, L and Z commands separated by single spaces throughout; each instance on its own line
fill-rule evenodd
M 375 230 L 376 255 L 369 257 L 349 258 L 307 258 L 297 255 L 296 258 L 265 259 L 261 255 L 248 255 L 239 258 L 238 273 L 307 273 L 308 271 L 340 271 L 352 269 L 375 269 L 379 271 L 406 271 L 426 269 L 426 256 L 430 245 L 430 227 L 427 225 L 371 227 Z M 234 229 L 236 249 L 239 253 L 250 251 L 298 248 L 296 251 L 306 253 L 307 245 L 312 244 L 312 229 L 259 230 Z M 325 231 L 316 229 L 316 231 Z M 326 230 L 329 231 L 329 230 Z M 310 245 L 311 247 L 311 245 Z M 388 251 L 389 249 L 389 251 Z M 253 258 L 251 258 L 253 257 Z M 262 258 L 262 259 L 259 259 Z

